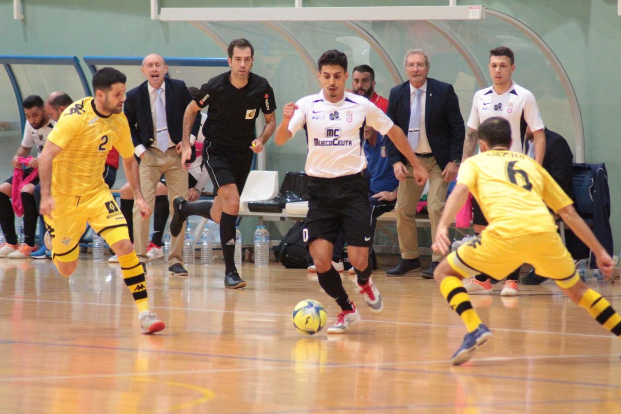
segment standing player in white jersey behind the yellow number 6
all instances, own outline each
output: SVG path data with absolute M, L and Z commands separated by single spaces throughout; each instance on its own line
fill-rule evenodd
M 513 51 L 508 47 L 497 47 L 489 51 L 489 76 L 493 84 L 474 94 L 472 110 L 468 119 L 468 136 L 464 142 L 462 160 L 473 155 L 479 140 L 477 130 L 484 120 L 491 117 L 506 119 L 511 126 L 510 151 L 524 153 L 524 135 L 529 127 L 535 144 L 535 160 L 543 163 L 545 153 L 545 132 L 537 101 L 532 92 L 516 84 L 511 75 L 515 71 Z M 473 200 L 473 225 L 478 234 L 487 225 L 481 208 Z M 502 296 L 515 296 L 518 291 L 520 269 L 509 276 L 501 291 Z M 492 291 L 491 278 L 481 274 L 466 284 L 466 290 L 472 294 L 488 294 Z

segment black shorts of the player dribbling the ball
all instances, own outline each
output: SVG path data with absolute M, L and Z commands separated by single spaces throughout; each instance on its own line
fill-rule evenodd
M 362 174 L 311 177 L 304 242 L 322 238 L 334 243 L 342 230 L 348 246 L 371 246 L 368 191 L 368 183 Z

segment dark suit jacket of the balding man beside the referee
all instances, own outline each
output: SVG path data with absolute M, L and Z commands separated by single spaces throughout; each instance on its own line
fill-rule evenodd
M 193 100 L 186 84 L 179 79 L 164 79 L 166 84 L 166 125 L 173 143 L 181 142 L 183 135 L 183 114 L 186 107 Z M 155 139 L 153 132 L 153 117 L 151 115 L 151 99 L 148 83 L 144 81 L 136 88 L 127 92 L 124 112 L 129 122 L 134 146 L 140 144 L 149 148 Z M 197 114 L 191 133 L 196 137 L 201 127 L 201 114 Z

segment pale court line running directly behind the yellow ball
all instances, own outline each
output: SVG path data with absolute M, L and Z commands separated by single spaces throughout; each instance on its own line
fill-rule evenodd
M 96 303 L 96 302 L 76 302 L 73 300 L 47 300 L 47 299 L 24 299 L 24 298 L 7 298 L 0 297 L 0 300 L 9 300 L 12 302 L 46 302 L 52 304 L 68 304 L 68 305 L 89 305 L 89 306 L 107 306 L 107 307 L 131 307 L 134 308 L 135 305 L 124 305 L 124 304 L 110 304 L 110 303 Z M 271 317 L 283 317 L 289 318 L 291 315 L 289 313 L 270 313 L 270 312 L 255 312 L 253 310 L 225 310 L 225 309 L 209 309 L 209 308 L 182 308 L 175 306 L 156 306 L 153 309 L 162 309 L 162 310 L 184 310 L 191 312 L 221 312 L 221 313 L 238 313 L 240 315 L 257 315 L 257 316 L 271 316 Z M 449 315 L 450 313 L 447 313 Z M 332 320 L 332 318 L 328 318 Z M 363 322 L 369 323 L 388 323 L 392 325 L 406 325 L 406 326 L 442 326 L 445 328 L 459 328 L 463 329 L 463 325 L 448 325 L 444 323 L 421 323 L 421 322 L 399 322 L 399 321 L 388 321 L 388 320 L 374 320 L 374 319 L 361 319 Z M 605 328 L 602 328 L 605 329 Z M 584 336 L 587 338 L 605 338 L 614 340 L 615 336 L 612 334 L 596 334 L 596 333 L 577 333 L 577 332 L 554 332 L 554 331 L 537 331 L 530 329 L 514 329 L 514 328 L 491 328 L 492 331 L 502 331 L 502 332 L 521 332 L 521 333 L 534 333 L 539 335 L 561 335 L 561 336 Z

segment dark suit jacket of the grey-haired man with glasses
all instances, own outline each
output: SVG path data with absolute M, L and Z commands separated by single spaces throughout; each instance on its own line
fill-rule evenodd
M 390 91 L 386 115 L 407 136 L 410 125 L 410 83 L 397 85 Z M 466 128 L 453 85 L 427 78 L 425 93 L 425 130 L 433 156 L 440 168 L 450 161 L 461 160 Z M 386 143 L 391 163 L 406 162 L 392 141 Z

